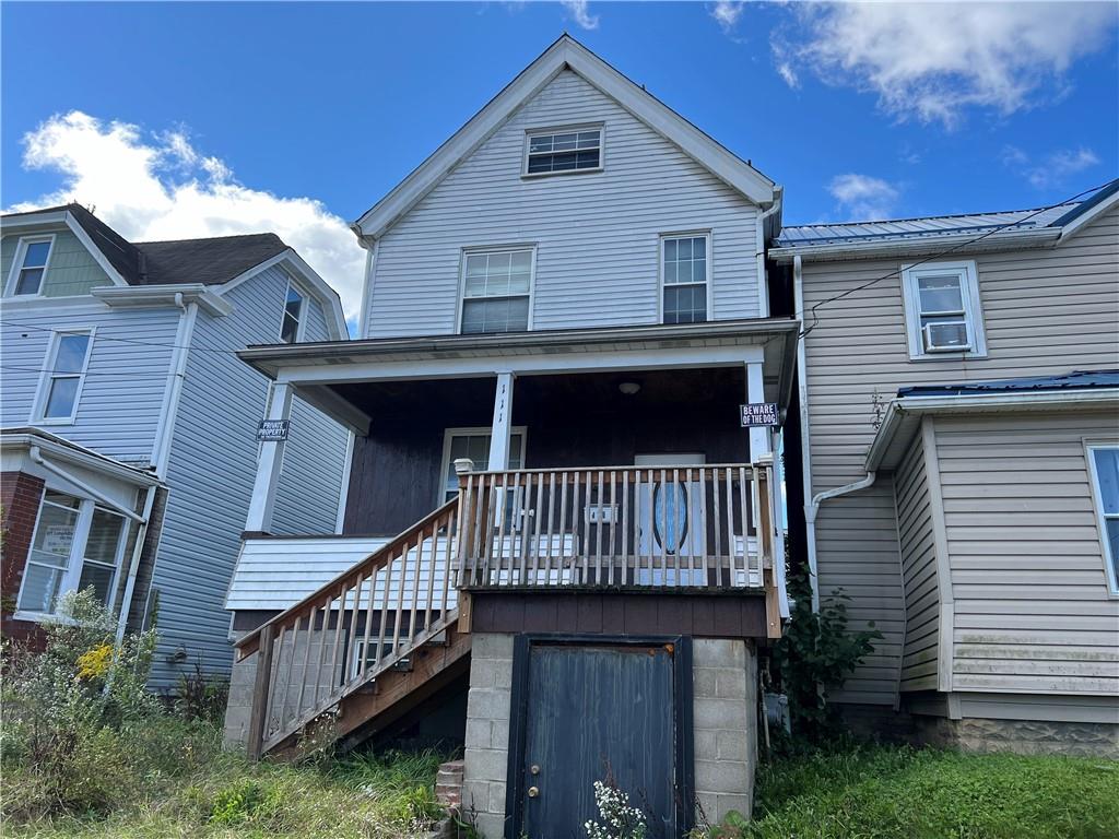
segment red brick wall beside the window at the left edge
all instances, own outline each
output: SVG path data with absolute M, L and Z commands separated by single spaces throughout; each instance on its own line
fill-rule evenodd
M 0 522 L 3 558 L 0 562 L 0 635 L 11 640 L 37 640 L 38 624 L 15 621 L 16 598 L 27 567 L 27 554 L 35 535 L 35 519 L 39 515 L 44 481 L 25 472 L 0 473 Z

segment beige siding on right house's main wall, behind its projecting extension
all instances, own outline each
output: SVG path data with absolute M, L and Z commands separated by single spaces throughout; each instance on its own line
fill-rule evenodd
M 805 341 L 814 492 L 865 477 L 876 395 L 888 402 L 904 386 L 1115 367 L 1119 210 L 1108 210 L 1056 248 L 978 254 L 975 262 L 986 358 L 941 353 L 913 364 L 897 276 L 818 310 L 819 324 Z M 901 267 L 901 260 L 806 263 L 806 311 Z M 896 527 L 890 475 L 820 507 L 820 591 L 843 586 L 852 597 L 853 624 L 874 620 L 886 634 L 839 691 L 850 701 L 892 704 L 896 696 L 904 620 Z M 1098 575 L 1100 550 L 1097 538 Z

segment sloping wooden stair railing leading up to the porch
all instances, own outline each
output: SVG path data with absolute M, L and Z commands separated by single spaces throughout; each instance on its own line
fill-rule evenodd
M 248 753 L 258 757 L 458 620 L 459 499 L 241 638 L 258 653 Z

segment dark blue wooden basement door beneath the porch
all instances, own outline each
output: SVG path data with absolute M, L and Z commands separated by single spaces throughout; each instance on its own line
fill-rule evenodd
M 599 818 L 594 782 L 608 779 L 646 813 L 649 839 L 680 836 L 690 755 L 678 730 L 678 645 L 527 645 L 516 839 L 583 839 Z

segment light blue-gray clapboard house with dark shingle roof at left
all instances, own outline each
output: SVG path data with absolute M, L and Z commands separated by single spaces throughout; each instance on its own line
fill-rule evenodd
M 152 685 L 228 672 L 224 597 L 267 380 L 235 350 L 340 341 L 337 294 L 273 234 L 131 243 L 79 205 L 0 219 L 4 634 L 93 586 L 160 631 Z M 347 433 L 292 407 L 274 526 L 332 532 Z

